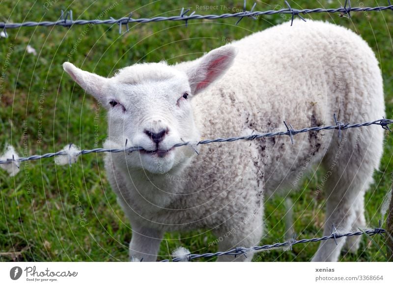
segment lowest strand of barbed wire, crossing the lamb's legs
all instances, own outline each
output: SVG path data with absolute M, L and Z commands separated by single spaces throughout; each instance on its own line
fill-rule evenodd
M 236 257 L 237 255 L 247 255 L 248 252 L 258 252 L 258 251 L 262 251 L 262 250 L 267 250 L 267 249 L 273 249 L 273 248 L 277 248 L 277 247 L 290 247 L 292 249 L 292 246 L 295 244 L 300 244 L 300 243 L 309 243 L 309 242 L 318 242 L 318 241 L 322 241 L 322 240 L 328 240 L 328 239 L 334 239 L 337 245 L 337 239 L 341 238 L 341 237 L 348 237 L 348 236 L 359 236 L 359 235 L 363 235 L 363 234 L 368 234 L 368 235 L 374 235 L 374 234 L 382 234 L 385 233 L 386 230 L 385 229 L 381 229 L 381 226 L 379 226 L 379 228 L 375 228 L 375 229 L 368 229 L 368 230 L 363 230 L 363 231 L 357 231 L 357 232 L 348 232 L 348 233 L 343 233 L 343 234 L 339 234 L 337 233 L 337 229 L 335 227 L 332 228 L 334 231 L 332 231 L 331 235 L 326 235 L 323 237 L 318 237 L 318 238 L 310 238 L 310 239 L 301 239 L 301 240 L 295 240 L 295 239 L 291 239 L 289 241 L 285 241 L 285 242 L 278 242 L 275 244 L 266 244 L 266 245 L 262 245 L 262 246 L 253 246 L 250 248 L 246 248 L 246 247 L 236 247 L 234 249 L 231 249 L 229 251 L 225 251 L 225 252 L 216 252 L 216 253 L 204 253 L 204 254 L 190 254 L 189 255 L 189 260 L 191 261 L 192 259 L 196 259 L 196 258 L 201 258 L 201 257 L 205 257 L 205 258 L 211 258 L 211 257 L 219 257 L 219 256 L 223 256 L 223 255 L 231 255 Z M 246 256 L 247 257 L 247 256 Z M 178 257 L 172 258 L 171 261 L 173 262 L 178 262 L 181 259 Z M 169 259 L 164 259 L 161 260 L 161 262 L 169 262 Z

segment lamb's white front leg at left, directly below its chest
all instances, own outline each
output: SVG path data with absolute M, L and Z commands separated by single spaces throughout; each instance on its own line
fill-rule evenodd
M 163 232 L 133 225 L 130 242 L 131 261 L 156 261 Z

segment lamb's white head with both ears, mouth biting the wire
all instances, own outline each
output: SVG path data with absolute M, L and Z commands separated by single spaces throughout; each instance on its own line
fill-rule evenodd
M 165 173 L 184 166 L 195 154 L 190 146 L 173 145 L 199 140 L 192 99 L 225 73 L 234 56 L 234 48 L 224 46 L 183 69 L 164 62 L 142 63 L 123 68 L 112 78 L 69 62 L 63 68 L 108 110 L 108 139 L 143 148 L 121 161 L 128 168 Z

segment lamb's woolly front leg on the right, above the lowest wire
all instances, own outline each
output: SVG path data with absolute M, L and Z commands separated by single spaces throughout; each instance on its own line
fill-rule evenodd
M 259 244 L 262 236 L 262 208 L 255 214 L 245 216 L 240 220 L 230 220 L 227 226 L 215 231 L 219 239 L 219 251 L 225 252 L 236 247 L 249 248 Z M 251 261 L 253 253 L 237 255 L 223 255 L 218 257 L 217 261 Z

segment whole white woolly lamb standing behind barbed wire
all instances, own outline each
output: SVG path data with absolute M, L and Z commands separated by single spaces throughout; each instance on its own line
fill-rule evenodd
M 333 24 L 295 21 L 187 62 L 140 63 L 104 78 L 64 70 L 108 109 L 107 176 L 133 230 L 130 257 L 155 261 L 165 231 L 210 229 L 219 251 L 257 245 L 263 202 L 325 169 L 324 235 L 365 227 L 364 195 L 382 156 L 377 126 L 249 142 L 181 142 L 294 127 L 362 122 L 385 113 L 381 71 L 366 42 Z M 198 153 L 198 154 L 197 154 Z M 318 188 L 319 191 L 321 188 Z M 312 190 L 313 192 L 314 190 Z M 274 214 L 273 214 L 274 215 Z M 312 261 L 336 261 L 359 237 L 321 242 Z M 252 255 L 218 261 L 250 261 Z

